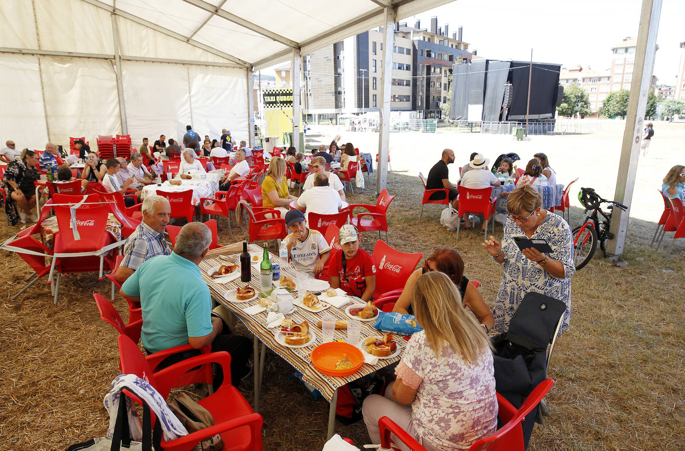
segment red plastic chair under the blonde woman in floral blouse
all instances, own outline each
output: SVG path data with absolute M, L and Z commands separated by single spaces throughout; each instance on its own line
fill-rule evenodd
M 525 451 L 521 423 L 525 415 L 535 409 L 540 404 L 540 401 L 545 398 L 552 385 L 554 385 L 552 379 L 545 379 L 525 398 L 519 409 L 512 406 L 508 400 L 498 393 L 497 404 L 499 405 L 499 412 L 497 416 L 499 416 L 503 426 L 497 429 L 493 435 L 473 443 L 469 451 Z M 399 441 L 408 446 L 410 450 L 425 451 L 421 443 L 397 426 L 397 423 L 390 420 L 390 418 L 382 417 L 378 420 L 378 427 L 380 428 L 381 448 L 390 449 L 390 433 L 392 433 Z

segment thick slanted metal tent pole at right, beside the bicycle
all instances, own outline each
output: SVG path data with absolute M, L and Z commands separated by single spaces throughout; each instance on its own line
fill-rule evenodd
M 619 161 L 619 174 L 616 178 L 616 192 L 614 193 L 614 199 L 627 205 L 628 210 L 623 211 L 620 208 L 614 208 L 611 227 L 609 228 L 609 231 L 614 234 L 614 238 L 609 240 L 607 246 L 607 255 L 611 256 L 610 258 L 616 265 L 625 264 L 620 256 L 623 253 L 625 235 L 628 229 L 630 203 L 633 198 L 640 144 L 644 133 L 647 95 L 649 94 L 657 49 L 656 35 L 659 31 L 661 3 L 662 0 L 643 0 L 643 8 L 640 13 L 640 29 L 635 49 L 630 100 L 628 101 L 627 116 L 625 116 L 621 160 Z

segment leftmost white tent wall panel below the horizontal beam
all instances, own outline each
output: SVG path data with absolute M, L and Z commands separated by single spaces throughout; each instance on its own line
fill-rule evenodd
M 38 57 L 0 54 L 0 80 L 0 145 L 14 140 L 17 149 L 44 149 L 47 128 Z

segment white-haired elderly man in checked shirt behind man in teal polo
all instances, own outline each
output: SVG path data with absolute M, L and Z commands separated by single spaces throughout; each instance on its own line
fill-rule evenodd
M 142 201 L 142 222 L 128 237 L 124 246 L 124 259 L 114 272 L 121 283 L 140 268 L 142 262 L 155 255 L 169 255 L 171 249 L 164 241 L 166 224 L 169 224 L 171 205 L 165 197 L 151 195 Z

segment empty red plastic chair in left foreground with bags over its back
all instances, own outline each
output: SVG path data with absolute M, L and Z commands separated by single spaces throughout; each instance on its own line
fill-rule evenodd
M 145 381 L 149 381 L 164 399 L 169 396 L 172 388 L 179 387 L 177 377 L 188 369 L 197 365 L 209 366 L 208 363 L 218 363 L 223 369 L 226 382 L 221 384 L 216 393 L 198 402 L 210 411 L 214 418 L 214 426 L 184 435 L 173 441 L 164 441 L 162 438 L 164 450 L 189 451 L 203 439 L 216 434 L 221 434 L 221 438 L 226 443 L 225 450 L 262 450 L 262 415 L 254 413 L 240 391 L 229 383 L 231 356 L 228 352 L 212 352 L 208 355 L 191 357 L 153 373 L 151 365 L 143 357 L 138 346 L 129 337 L 119 335 L 119 358 L 124 374 L 136 374 Z M 140 400 L 128 390 L 124 390 L 124 393 L 140 403 Z M 227 409 L 227 407 L 230 408 Z

